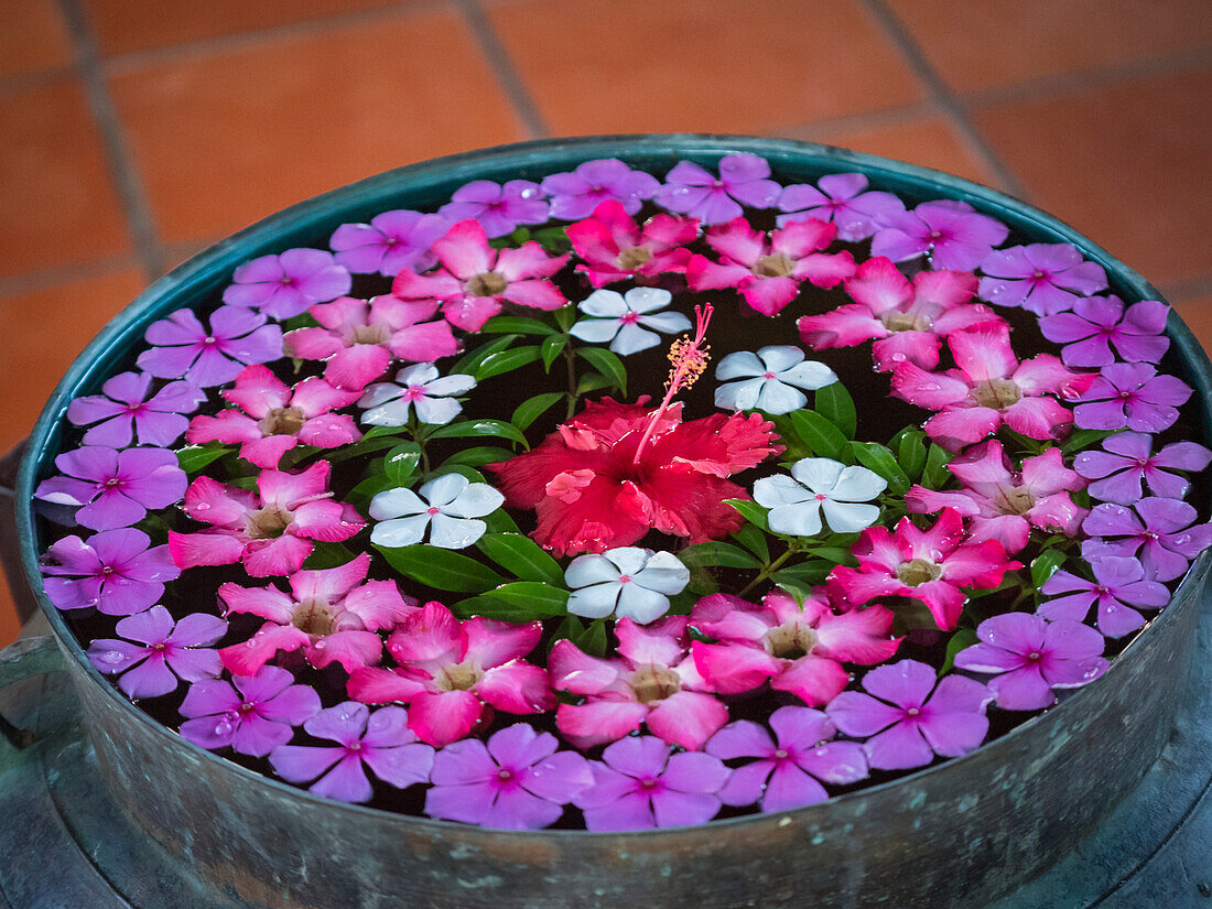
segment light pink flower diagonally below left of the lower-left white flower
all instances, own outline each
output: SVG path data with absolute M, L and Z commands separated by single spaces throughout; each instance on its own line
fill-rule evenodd
M 236 675 L 256 675 L 279 652 L 297 650 L 316 669 L 339 663 L 351 673 L 378 663 L 383 641 L 375 633 L 395 628 L 416 612 L 417 601 L 400 596 L 394 581 L 366 581 L 370 566 L 362 553 L 336 568 L 295 572 L 292 595 L 276 587 L 219 587 L 229 613 L 267 619 L 251 639 L 221 651 L 223 665 Z

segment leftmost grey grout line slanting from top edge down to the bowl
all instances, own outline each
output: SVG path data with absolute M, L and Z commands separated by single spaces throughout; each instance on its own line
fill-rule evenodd
M 118 108 L 101 74 L 97 42 L 88 25 L 81 0 L 59 0 L 75 51 L 76 69 L 84 82 L 88 108 L 101 135 L 105 165 L 118 190 L 126 216 L 126 225 L 135 242 L 135 252 L 148 280 L 164 271 L 164 251 L 156 234 L 155 217 L 143 182 L 130 154 L 126 133 L 118 116 Z

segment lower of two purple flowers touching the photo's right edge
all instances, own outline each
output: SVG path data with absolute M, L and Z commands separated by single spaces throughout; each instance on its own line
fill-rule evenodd
M 1195 524 L 1195 509 L 1173 498 L 1143 498 L 1136 511 L 1115 504 L 1094 505 L 1081 525 L 1091 537 L 1081 556 L 1093 561 L 1107 555 L 1137 556 L 1150 581 L 1173 581 L 1187 565 L 1212 543 L 1212 525 Z M 1137 555 L 1139 550 L 1139 555 Z

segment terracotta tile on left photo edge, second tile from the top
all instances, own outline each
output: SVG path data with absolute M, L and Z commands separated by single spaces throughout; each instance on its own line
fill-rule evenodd
M 0 276 L 130 247 L 79 84 L 0 95 Z

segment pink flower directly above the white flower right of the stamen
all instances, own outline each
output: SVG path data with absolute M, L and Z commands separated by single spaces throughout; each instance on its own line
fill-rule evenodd
M 776 315 L 795 299 L 800 282 L 833 287 L 854 274 L 850 252 L 822 253 L 837 228 L 817 218 L 772 230 L 770 236 L 743 217 L 707 231 L 707 242 L 720 262 L 691 256 L 686 281 L 692 291 L 736 287 L 745 303 L 762 315 Z

